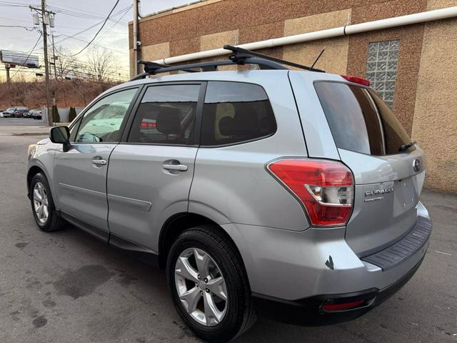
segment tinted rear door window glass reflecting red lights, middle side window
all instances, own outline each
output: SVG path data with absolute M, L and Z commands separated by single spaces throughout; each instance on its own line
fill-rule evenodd
M 131 126 L 131 143 L 194 144 L 199 84 L 150 86 Z

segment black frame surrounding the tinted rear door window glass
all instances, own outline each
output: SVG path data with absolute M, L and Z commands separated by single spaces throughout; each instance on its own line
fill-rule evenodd
M 131 110 L 131 116 L 129 116 L 129 120 L 126 122 L 126 129 L 121 136 L 121 141 L 119 144 L 126 144 L 126 145 L 156 145 L 156 146 L 188 146 L 188 147 L 198 147 L 200 146 L 200 129 L 201 129 L 201 114 L 203 112 L 203 100 L 206 94 L 206 84 L 207 81 L 166 81 L 166 82 L 156 82 L 154 84 L 145 84 L 144 88 L 141 90 L 140 94 L 138 94 L 134 107 Z M 199 90 L 199 99 L 197 99 L 197 107 L 196 107 L 196 121 L 195 121 L 195 132 L 194 132 L 194 144 L 167 144 L 167 143 L 141 143 L 136 141 L 128 141 L 131 128 L 134 124 L 135 117 L 139 106 L 141 105 L 141 100 L 143 100 L 144 94 L 149 89 L 149 87 L 156 87 L 156 86 L 189 86 L 189 85 L 198 85 L 200 86 Z

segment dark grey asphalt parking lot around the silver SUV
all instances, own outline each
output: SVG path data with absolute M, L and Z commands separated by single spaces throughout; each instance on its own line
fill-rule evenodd
M 198 341 L 176 314 L 163 272 L 73 227 L 36 228 L 26 148 L 44 136 L 9 131 L 0 130 L 0 342 Z M 426 191 L 422 202 L 434 222 L 431 244 L 391 299 L 332 327 L 259 319 L 236 342 L 457 342 L 457 196 Z

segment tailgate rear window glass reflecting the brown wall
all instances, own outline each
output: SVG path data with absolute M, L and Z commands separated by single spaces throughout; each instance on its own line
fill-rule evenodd
M 338 82 L 314 84 L 338 148 L 362 154 L 398 154 L 408 134 L 372 89 Z

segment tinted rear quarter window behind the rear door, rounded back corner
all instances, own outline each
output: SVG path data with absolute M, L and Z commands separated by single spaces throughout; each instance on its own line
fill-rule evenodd
M 261 86 L 211 81 L 201 121 L 201 145 L 233 144 L 276 132 L 270 101 Z

